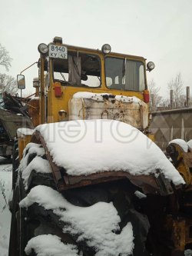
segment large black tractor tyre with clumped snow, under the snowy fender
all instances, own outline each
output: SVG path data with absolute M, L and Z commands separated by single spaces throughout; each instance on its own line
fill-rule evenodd
M 75 255 L 150 255 L 145 248 L 149 223 L 134 209 L 129 186 L 128 181 L 115 181 L 62 194 L 45 185 L 31 188 L 20 204 L 27 214 L 25 251 L 38 255 L 34 241 L 42 241 L 46 251 L 47 235 L 58 239 L 61 248 L 72 248 Z

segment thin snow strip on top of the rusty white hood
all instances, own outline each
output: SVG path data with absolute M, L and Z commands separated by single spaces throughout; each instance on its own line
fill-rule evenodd
M 112 98 L 117 101 L 122 101 L 126 103 L 138 103 L 141 102 L 141 100 L 137 97 L 128 97 L 128 96 L 123 96 L 123 95 L 111 95 L 108 93 L 93 93 L 93 92 L 88 92 L 88 91 L 79 91 L 73 95 L 73 98 L 87 98 L 87 99 L 92 99 L 94 101 L 104 101 L 104 98 Z

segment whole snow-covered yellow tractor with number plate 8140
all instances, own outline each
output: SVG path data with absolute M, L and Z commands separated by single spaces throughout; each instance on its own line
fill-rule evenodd
M 184 255 L 184 179 L 148 129 L 154 63 L 60 37 L 38 52 L 35 129 L 15 139 L 9 256 Z

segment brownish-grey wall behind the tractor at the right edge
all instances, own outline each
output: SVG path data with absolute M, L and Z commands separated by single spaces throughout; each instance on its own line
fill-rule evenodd
M 150 125 L 154 133 L 155 143 L 165 150 L 169 141 L 182 138 L 192 139 L 192 108 L 181 108 L 152 113 Z

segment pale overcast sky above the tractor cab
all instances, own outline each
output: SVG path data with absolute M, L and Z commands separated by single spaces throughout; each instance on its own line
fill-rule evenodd
M 181 73 L 192 91 L 191 0 L 6 0 L 1 2 L 0 43 L 13 58 L 15 76 L 38 60 L 38 44 L 57 35 L 69 45 L 141 55 L 156 65 L 147 73 L 168 97 L 167 82 Z M 0 68 L 0 72 L 5 72 Z M 34 92 L 33 67 L 24 73 Z

